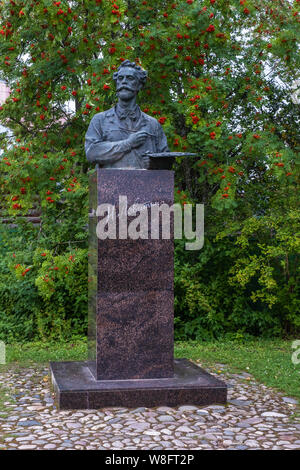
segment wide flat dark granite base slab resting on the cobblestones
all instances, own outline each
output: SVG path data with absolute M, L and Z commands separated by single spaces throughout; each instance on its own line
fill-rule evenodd
M 174 376 L 95 380 L 88 362 L 51 362 L 52 386 L 61 410 L 224 404 L 227 386 L 186 359 L 175 359 Z

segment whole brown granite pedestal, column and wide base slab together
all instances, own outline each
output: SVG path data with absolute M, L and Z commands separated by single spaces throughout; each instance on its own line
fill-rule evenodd
M 225 403 L 224 383 L 173 357 L 172 216 L 169 239 L 163 239 L 161 227 L 159 238 L 151 238 L 150 224 L 151 207 L 173 205 L 173 172 L 96 169 L 89 184 L 88 361 L 50 364 L 57 405 L 77 409 Z M 110 219 L 115 239 L 96 234 L 101 204 L 115 208 L 115 218 Z M 146 236 L 144 232 L 143 239 L 124 238 L 119 231 L 124 228 L 122 214 L 130 207 L 134 214 L 137 204 L 148 213 Z M 127 218 L 126 230 L 139 213 Z

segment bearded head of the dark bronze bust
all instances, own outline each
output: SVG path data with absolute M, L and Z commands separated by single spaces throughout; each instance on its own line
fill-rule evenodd
M 117 72 L 113 74 L 117 94 L 121 99 L 131 99 L 137 95 L 147 80 L 147 72 L 130 60 L 124 60 Z

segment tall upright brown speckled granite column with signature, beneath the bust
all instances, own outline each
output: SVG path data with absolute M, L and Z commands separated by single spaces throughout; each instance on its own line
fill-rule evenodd
M 96 186 L 96 190 L 95 190 Z M 90 213 L 119 196 L 132 204 L 173 204 L 172 171 L 97 169 Z M 150 227 L 150 209 L 149 209 Z M 134 218 L 134 217 L 133 217 Z M 133 219 L 130 218 L 129 222 Z M 173 233 L 170 240 L 100 240 L 90 217 L 89 359 L 99 380 L 173 375 Z M 96 278 L 96 280 L 95 280 Z

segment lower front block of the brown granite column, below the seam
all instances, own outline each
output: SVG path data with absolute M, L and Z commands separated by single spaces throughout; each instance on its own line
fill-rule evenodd
M 100 293 L 98 305 L 98 380 L 172 377 L 172 291 Z

